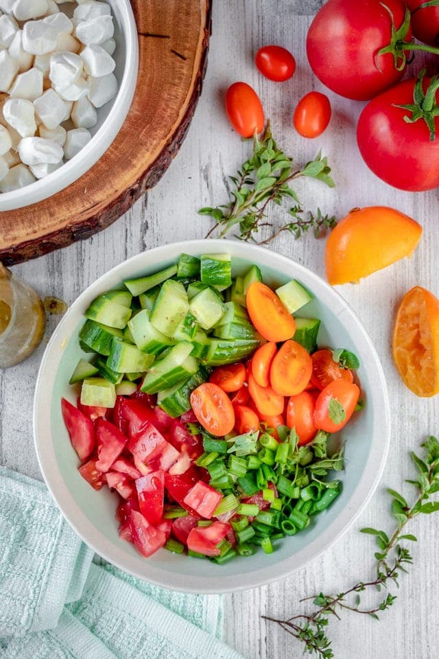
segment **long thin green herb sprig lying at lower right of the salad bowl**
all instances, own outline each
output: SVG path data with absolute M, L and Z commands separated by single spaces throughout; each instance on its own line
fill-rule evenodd
M 439 501 L 431 497 L 439 492 L 439 441 L 436 437 L 428 437 L 421 445 L 424 449 L 423 459 L 412 453 L 412 459 L 417 470 L 417 478 L 409 480 L 416 487 L 417 496 L 412 505 L 396 492 L 388 489 L 392 498 L 392 516 L 396 522 L 392 533 L 377 529 L 361 529 L 361 533 L 375 536 L 378 550 L 375 552 L 375 579 L 370 581 L 357 581 L 354 586 L 338 594 L 320 594 L 307 597 L 313 600 L 316 610 L 309 614 L 298 614 L 280 620 L 270 616 L 263 616 L 267 620 L 280 625 L 286 632 L 300 640 L 303 651 L 316 654 L 319 659 L 333 658 L 331 640 L 327 633 L 327 627 L 331 616 L 341 619 L 344 611 L 371 616 L 379 619 L 378 614 L 390 608 L 396 600 L 396 595 L 388 592 L 379 596 L 377 602 L 369 607 L 361 607 L 360 593 L 370 590 L 381 591 L 389 586 L 399 586 L 401 572 L 407 573 L 407 566 L 412 564 L 412 555 L 407 549 L 405 542 L 416 542 L 412 533 L 403 533 L 405 527 L 418 515 L 429 515 L 439 510 Z

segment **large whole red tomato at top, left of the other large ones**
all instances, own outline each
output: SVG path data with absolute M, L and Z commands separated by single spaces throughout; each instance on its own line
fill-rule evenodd
M 392 53 L 379 51 L 390 45 L 392 20 L 396 30 L 403 25 L 405 10 L 403 0 L 324 3 L 307 35 L 307 56 L 318 79 L 355 100 L 368 100 L 399 82 L 405 71 L 404 51 L 396 63 Z M 398 46 L 411 38 L 409 23 Z

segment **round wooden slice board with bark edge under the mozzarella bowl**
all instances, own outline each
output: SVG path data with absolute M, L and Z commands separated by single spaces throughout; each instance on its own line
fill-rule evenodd
M 206 70 L 211 0 L 131 0 L 139 78 L 130 112 L 104 156 L 51 198 L 0 213 L 0 260 L 23 262 L 108 227 L 169 167 Z

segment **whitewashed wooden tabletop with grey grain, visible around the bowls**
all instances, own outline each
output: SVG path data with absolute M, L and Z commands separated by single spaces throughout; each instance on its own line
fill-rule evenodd
M 250 151 L 224 115 L 224 90 L 235 80 L 245 80 L 259 91 L 278 143 L 298 162 L 311 159 L 319 148 L 328 155 L 337 187 L 332 191 L 308 181 L 301 196 L 310 209 L 320 206 L 324 212 L 342 217 L 355 206 L 390 205 L 423 224 L 423 239 L 411 260 L 376 273 L 359 286 L 340 287 L 377 347 L 390 391 L 392 441 L 381 485 L 355 527 L 316 562 L 270 586 L 226 596 L 226 640 L 247 659 L 291 659 L 301 653 L 296 640 L 265 623 L 261 614 L 288 617 L 300 613 L 300 598 L 320 590 L 340 592 L 354 580 L 372 576 L 374 545 L 358 530 L 390 521 L 385 487 L 410 487 L 403 485 L 411 474 L 408 451 L 416 450 L 425 435 L 439 433 L 438 397 L 423 400 L 412 395 L 390 356 L 392 321 L 402 294 L 415 284 L 439 294 L 438 192 L 396 192 L 367 170 L 355 146 L 355 120 L 361 104 L 329 93 L 333 105 L 329 130 L 315 141 L 294 132 L 294 104 L 313 86 L 322 89 L 305 58 L 307 14 L 321 4 L 319 0 L 217 0 L 204 92 L 189 135 L 163 180 L 104 233 L 13 268 L 42 297 L 54 294 L 71 303 L 96 277 L 123 259 L 165 242 L 205 235 L 209 221 L 198 216 L 197 210 L 226 200 L 226 177 Z M 263 79 L 252 64 L 254 51 L 269 43 L 289 48 L 297 58 L 296 75 L 284 84 Z M 282 235 L 271 248 L 324 275 L 324 243 L 311 235 L 298 241 Z M 46 340 L 32 358 L 0 373 L 0 463 L 35 478 L 40 474 L 32 441 L 32 395 L 44 344 L 57 321 L 54 316 L 49 319 Z M 353 614 L 344 616 L 342 622 L 333 621 L 330 634 L 337 659 L 438 656 L 438 520 L 432 516 L 414 527 L 420 542 L 413 547 L 415 564 L 402 579 L 399 601 L 379 623 Z

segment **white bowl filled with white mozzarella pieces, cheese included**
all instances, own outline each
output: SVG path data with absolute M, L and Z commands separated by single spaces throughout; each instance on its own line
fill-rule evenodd
M 129 0 L 0 0 L 0 211 L 93 167 L 126 119 L 138 66 Z

